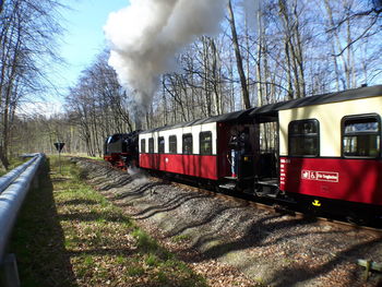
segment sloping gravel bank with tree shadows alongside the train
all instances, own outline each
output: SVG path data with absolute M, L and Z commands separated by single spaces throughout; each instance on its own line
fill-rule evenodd
M 382 262 L 382 236 L 317 224 L 242 201 L 74 159 L 89 184 L 211 286 L 382 286 L 358 259 Z M 244 275 L 243 275 L 244 274 Z

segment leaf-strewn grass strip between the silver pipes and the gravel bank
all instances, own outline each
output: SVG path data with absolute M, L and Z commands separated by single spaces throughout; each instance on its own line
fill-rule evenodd
M 207 286 L 83 181 L 50 157 L 12 239 L 23 286 Z M 50 172 L 48 172 L 50 171 Z

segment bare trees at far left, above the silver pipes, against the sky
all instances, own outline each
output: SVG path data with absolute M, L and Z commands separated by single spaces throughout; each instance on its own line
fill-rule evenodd
M 14 112 L 21 98 L 46 88 L 45 60 L 57 59 L 56 0 L 9 0 L 0 5 L 0 159 L 8 167 Z

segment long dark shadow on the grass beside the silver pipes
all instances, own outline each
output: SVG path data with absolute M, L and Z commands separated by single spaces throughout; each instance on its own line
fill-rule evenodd
M 48 170 L 47 159 L 39 175 L 39 188 L 32 189 L 24 201 L 10 249 L 16 254 L 22 286 L 75 287 Z

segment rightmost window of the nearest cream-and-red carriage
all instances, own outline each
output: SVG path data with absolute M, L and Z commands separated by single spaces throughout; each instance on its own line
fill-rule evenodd
M 377 115 L 348 116 L 342 121 L 343 156 L 379 157 L 381 120 Z

